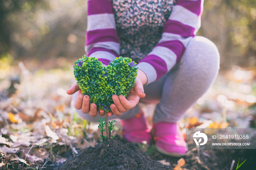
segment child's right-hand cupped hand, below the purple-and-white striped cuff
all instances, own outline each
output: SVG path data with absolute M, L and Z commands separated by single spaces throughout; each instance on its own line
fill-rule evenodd
M 146 83 L 146 74 L 143 71 L 138 70 L 136 82 L 132 89 L 129 91 L 127 97 L 125 98 L 123 95 L 120 95 L 119 97 L 117 95 L 112 96 L 114 104 L 110 105 L 112 110 L 110 113 L 120 116 L 123 114 L 123 112 L 126 112 L 135 107 L 138 104 L 139 99 L 146 96 L 143 88 L 143 85 Z

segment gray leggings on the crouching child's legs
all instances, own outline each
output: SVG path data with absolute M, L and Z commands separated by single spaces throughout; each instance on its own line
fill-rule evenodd
M 145 98 L 140 102 L 158 103 L 153 122 L 177 122 L 185 112 L 199 99 L 214 82 L 219 71 L 219 52 L 214 43 L 205 37 L 196 36 L 188 43 L 180 61 L 157 81 L 144 86 Z M 76 100 L 77 93 L 73 95 Z M 78 114 L 90 122 L 97 122 L 99 115 Z M 113 115 L 109 119 L 133 118 L 140 108 L 124 112 L 121 116 Z

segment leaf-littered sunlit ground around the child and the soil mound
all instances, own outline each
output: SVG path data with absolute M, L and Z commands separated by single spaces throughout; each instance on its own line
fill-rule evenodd
M 99 140 L 97 123 L 76 114 L 66 90 L 74 83 L 72 64 L 60 58 L 44 63 L 0 60 L 0 169 L 56 168 Z M 256 68 L 221 71 L 213 86 L 188 110 L 179 125 L 195 128 L 255 128 Z M 151 122 L 154 106 L 141 104 Z M 119 120 L 112 133 L 122 136 Z M 179 170 L 256 169 L 256 150 L 191 149 L 182 158 L 158 153 L 155 145 L 135 143 L 156 161 Z M 179 162 L 179 163 L 178 163 Z M 58 166 L 59 165 L 59 166 Z

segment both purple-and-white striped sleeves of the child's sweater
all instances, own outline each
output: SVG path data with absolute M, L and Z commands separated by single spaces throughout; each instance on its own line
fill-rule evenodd
M 111 0 L 87 0 L 86 54 L 108 64 L 120 56 L 120 39 Z M 166 74 L 181 58 L 201 25 L 203 0 L 177 0 L 157 45 L 136 67 L 147 84 Z

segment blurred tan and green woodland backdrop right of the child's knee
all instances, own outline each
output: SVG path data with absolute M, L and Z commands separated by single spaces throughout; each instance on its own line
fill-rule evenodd
M 200 35 L 221 54 L 221 69 L 256 65 L 256 1 L 205 0 Z

